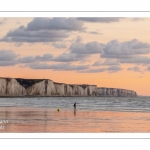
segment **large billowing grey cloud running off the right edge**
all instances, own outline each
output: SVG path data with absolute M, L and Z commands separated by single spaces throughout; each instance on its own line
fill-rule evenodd
M 108 42 L 101 55 L 103 58 L 132 58 L 134 55 L 148 54 L 150 44 L 133 39 L 131 41 L 119 42 L 112 40 Z

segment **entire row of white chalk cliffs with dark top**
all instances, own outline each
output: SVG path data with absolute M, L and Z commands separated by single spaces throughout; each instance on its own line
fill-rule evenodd
M 0 78 L 0 96 L 137 96 L 136 92 L 96 85 L 55 83 L 47 79 Z

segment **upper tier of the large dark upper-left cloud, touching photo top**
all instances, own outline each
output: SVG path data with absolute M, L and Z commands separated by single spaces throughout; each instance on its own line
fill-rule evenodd
M 78 21 L 76 18 L 34 18 L 28 23 L 26 30 L 39 31 L 39 30 L 70 30 L 82 31 L 85 30 L 83 22 Z

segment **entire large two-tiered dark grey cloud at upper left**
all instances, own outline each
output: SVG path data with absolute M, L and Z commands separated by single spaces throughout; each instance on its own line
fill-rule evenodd
M 84 31 L 83 22 L 76 18 L 34 18 L 27 26 L 10 30 L 0 42 L 58 42 L 72 31 Z M 54 43 L 58 47 L 58 44 Z M 62 47 L 62 45 L 59 45 Z

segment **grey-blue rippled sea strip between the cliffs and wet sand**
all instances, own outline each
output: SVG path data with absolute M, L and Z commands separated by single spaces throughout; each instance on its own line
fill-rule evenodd
M 0 98 L 0 107 L 59 108 L 92 111 L 150 112 L 150 97 L 23 97 Z

